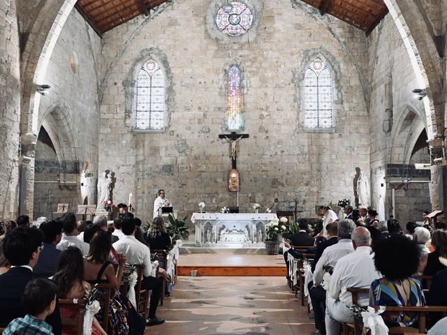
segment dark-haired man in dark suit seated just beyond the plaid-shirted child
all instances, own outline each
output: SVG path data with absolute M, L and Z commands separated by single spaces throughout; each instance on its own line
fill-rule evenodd
M 26 314 L 22 306 L 22 295 L 29 281 L 34 279 L 36 265 L 43 246 L 43 232 L 37 228 L 22 226 L 8 230 L 3 241 L 3 253 L 11 268 L 0 276 L 0 327 L 6 327 L 15 318 Z M 61 333 L 59 306 L 47 318 L 54 334 Z

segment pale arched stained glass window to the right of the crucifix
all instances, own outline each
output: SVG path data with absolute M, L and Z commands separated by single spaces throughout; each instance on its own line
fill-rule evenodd
M 332 75 L 317 58 L 305 73 L 303 85 L 306 128 L 332 128 Z

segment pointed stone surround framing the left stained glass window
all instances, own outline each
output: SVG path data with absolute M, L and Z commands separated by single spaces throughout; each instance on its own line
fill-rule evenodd
M 135 84 L 139 70 L 145 61 L 154 59 L 163 70 L 165 75 L 165 104 L 166 104 L 166 124 L 164 131 L 169 128 L 171 114 L 175 111 L 175 91 L 173 89 L 173 72 L 170 69 L 168 57 L 158 47 L 150 47 L 140 51 L 138 57 L 135 58 L 133 64 L 129 68 L 129 73 L 125 80 L 123 80 L 124 95 L 125 95 L 125 119 L 126 126 L 131 129 L 135 128 Z M 136 131 L 148 132 L 148 131 Z M 152 132 L 152 131 L 149 131 Z

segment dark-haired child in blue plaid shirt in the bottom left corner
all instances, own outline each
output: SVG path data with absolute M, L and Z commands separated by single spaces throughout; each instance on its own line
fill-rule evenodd
M 56 284 L 49 279 L 37 278 L 27 284 L 22 296 L 22 305 L 27 315 L 10 322 L 3 335 L 52 335 L 52 327 L 45 318 L 56 306 Z

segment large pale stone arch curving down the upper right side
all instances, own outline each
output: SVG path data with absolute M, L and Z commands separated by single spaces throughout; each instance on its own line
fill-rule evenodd
M 433 29 L 427 26 L 426 13 L 418 6 L 419 1 L 384 0 L 396 24 L 411 66 L 420 87 L 425 89 L 425 123 L 429 139 L 444 136 L 444 91 L 442 90 L 441 57 L 435 44 Z M 435 6 L 434 4 L 432 6 Z M 440 10 L 441 8 L 439 8 Z

